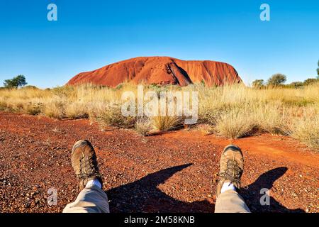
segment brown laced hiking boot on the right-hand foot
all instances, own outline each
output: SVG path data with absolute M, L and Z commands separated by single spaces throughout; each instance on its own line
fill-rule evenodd
M 242 151 L 235 145 L 228 145 L 220 157 L 220 170 L 218 174 L 218 184 L 216 187 L 216 198 L 219 196 L 221 188 L 225 182 L 234 184 L 240 189 L 240 178 L 244 170 L 244 157 Z

